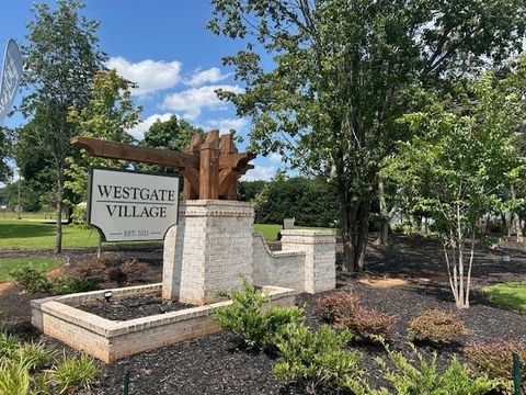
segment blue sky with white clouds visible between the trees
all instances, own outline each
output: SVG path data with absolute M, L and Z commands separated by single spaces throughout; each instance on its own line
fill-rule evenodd
M 25 42 L 25 24 L 33 18 L 33 0 L 2 1 L 0 45 L 8 38 Z M 55 2 L 47 1 L 55 7 Z M 211 15 L 208 0 L 85 0 L 89 19 L 101 22 L 100 46 L 108 57 L 108 67 L 137 82 L 137 104 L 144 108 L 144 122 L 130 131 L 141 138 L 157 119 L 171 114 L 182 116 L 205 129 L 224 133 L 235 128 L 247 145 L 249 120 L 236 116 L 231 104 L 219 102 L 214 90 L 221 87 L 241 91 L 242 84 L 231 78 L 232 69 L 221 57 L 233 54 L 239 43 L 218 37 L 206 30 Z M 3 53 L 3 49 L 2 49 Z M 20 98 L 19 98 L 20 99 Z M 7 120 L 8 126 L 21 122 Z M 282 158 L 259 157 L 255 169 L 244 179 L 268 179 L 281 168 Z

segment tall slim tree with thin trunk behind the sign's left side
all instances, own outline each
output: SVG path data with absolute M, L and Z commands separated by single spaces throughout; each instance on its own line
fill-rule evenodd
M 65 194 L 66 159 L 75 127 L 68 121 L 71 106 L 82 109 L 89 100 L 94 74 L 105 55 L 99 49 L 99 22 L 80 15 L 84 7 L 77 0 L 58 0 L 57 9 L 35 4 L 35 19 L 27 24 L 28 44 L 23 48 L 27 94 L 21 110 L 34 126 L 33 145 L 47 151 L 55 180 L 57 211 L 55 252 L 62 249 L 61 212 Z

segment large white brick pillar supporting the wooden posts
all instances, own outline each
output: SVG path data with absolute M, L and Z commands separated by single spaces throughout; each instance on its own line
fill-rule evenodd
M 207 304 L 217 291 L 252 281 L 254 207 L 219 200 L 182 202 L 164 237 L 162 297 Z

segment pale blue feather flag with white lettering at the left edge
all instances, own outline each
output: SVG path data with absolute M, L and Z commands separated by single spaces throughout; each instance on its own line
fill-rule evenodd
M 23 66 L 24 60 L 19 45 L 14 40 L 10 38 L 5 46 L 2 82 L 0 84 L 0 124 L 3 122 L 13 105 L 20 79 L 22 78 Z

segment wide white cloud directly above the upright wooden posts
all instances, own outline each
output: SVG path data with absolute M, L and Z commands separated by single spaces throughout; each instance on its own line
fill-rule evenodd
M 201 115 L 203 109 L 225 110 L 227 108 L 227 104 L 217 98 L 215 92 L 217 89 L 235 93 L 241 93 L 243 91 L 241 87 L 230 84 L 211 84 L 191 88 L 167 95 L 162 108 L 178 112 L 183 117 L 193 121 Z

